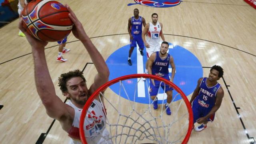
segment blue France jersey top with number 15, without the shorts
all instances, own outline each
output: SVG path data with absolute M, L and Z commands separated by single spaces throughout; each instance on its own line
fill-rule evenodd
M 217 83 L 215 86 L 208 87 L 206 84 L 207 78 L 203 78 L 199 86 L 200 91 L 195 100 L 200 106 L 204 108 L 212 108 L 215 106 L 216 93 L 220 88 L 220 84 Z

